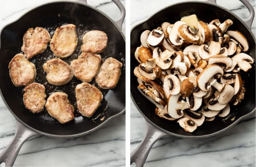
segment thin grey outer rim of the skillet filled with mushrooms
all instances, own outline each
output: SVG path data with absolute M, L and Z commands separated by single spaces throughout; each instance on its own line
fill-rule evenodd
M 201 4 L 213 5 L 213 6 L 216 6 L 216 7 L 220 8 L 220 9 L 222 9 L 222 10 L 225 10 L 226 12 L 229 12 L 231 15 L 233 15 L 235 18 L 237 18 L 237 19 L 242 23 L 242 25 L 245 26 L 245 28 L 246 28 L 247 30 L 249 30 L 251 37 L 254 39 L 254 42 L 256 43 L 255 37 L 254 37 L 254 34 L 253 34 L 252 31 L 251 31 L 251 28 L 249 28 L 239 16 L 237 16 L 237 15 L 234 14 L 232 11 L 230 11 L 229 9 L 226 9 L 226 8 L 223 7 L 223 6 L 220 6 L 220 5 L 218 5 L 218 4 L 214 4 L 213 2 L 208 2 L 208 1 L 178 2 L 178 3 L 174 3 L 174 4 L 172 4 L 172 5 L 166 6 L 166 7 L 162 8 L 162 9 L 156 11 L 153 15 L 151 15 L 151 16 L 149 16 L 149 17 L 146 17 L 145 19 L 142 19 L 142 20 L 140 20 L 140 21 L 134 22 L 134 23 L 132 24 L 132 26 L 131 26 L 130 33 L 132 33 L 133 30 L 134 30 L 135 28 L 137 28 L 139 25 L 142 25 L 143 23 L 149 21 L 153 16 L 155 16 L 155 15 L 158 14 L 159 12 L 161 12 L 161 11 L 163 11 L 163 10 L 165 10 L 165 9 L 167 9 L 167 8 L 169 8 L 169 7 L 171 7 L 171 6 L 180 5 L 180 4 L 187 4 L 187 3 L 201 3 Z M 130 58 L 131 58 L 131 57 L 130 57 Z M 143 112 L 140 110 L 140 108 L 138 107 L 137 103 L 135 102 L 135 100 L 134 100 L 134 98 L 133 98 L 133 96 L 132 96 L 132 90 L 130 90 L 130 98 L 132 99 L 134 106 L 137 108 L 137 110 L 140 112 L 140 114 L 142 114 L 142 116 L 144 117 L 144 119 L 146 120 L 146 122 L 148 122 L 148 123 L 150 123 L 151 125 L 153 125 L 156 129 L 161 130 L 162 132 L 164 132 L 164 133 L 166 133 L 166 134 L 168 134 L 168 135 L 177 136 L 177 137 L 179 137 L 179 138 L 190 138 L 190 139 L 208 138 L 208 137 L 215 136 L 215 135 L 218 135 L 218 134 L 220 134 L 220 133 L 223 133 L 224 131 L 226 131 L 226 130 L 230 129 L 231 127 L 233 127 L 234 125 L 238 124 L 243 118 L 245 118 L 245 117 L 247 117 L 247 116 L 249 116 L 249 115 L 255 113 L 255 109 L 256 109 L 256 107 L 255 107 L 255 108 L 252 109 L 249 113 L 247 113 L 247 114 L 245 114 L 245 115 L 242 115 L 241 117 L 239 117 L 237 120 L 235 120 L 233 123 L 231 123 L 231 124 L 230 124 L 229 126 L 227 126 L 226 128 L 223 128 L 223 129 L 221 129 L 221 130 L 219 130 L 219 131 L 216 131 L 216 132 L 214 132 L 214 133 L 207 134 L 207 135 L 188 136 L 188 135 L 180 135 L 180 134 L 172 133 L 172 132 L 167 131 L 167 130 L 161 128 L 160 126 L 156 125 L 156 124 L 155 124 L 154 122 L 152 122 L 148 117 L 146 117 L 146 116 L 143 114 Z

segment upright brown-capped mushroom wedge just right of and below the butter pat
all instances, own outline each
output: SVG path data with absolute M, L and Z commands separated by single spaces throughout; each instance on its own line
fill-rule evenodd
M 210 41 L 211 39 L 210 29 L 208 28 L 206 23 L 204 23 L 203 21 L 197 22 L 197 35 L 199 36 L 198 43 L 200 45 Z

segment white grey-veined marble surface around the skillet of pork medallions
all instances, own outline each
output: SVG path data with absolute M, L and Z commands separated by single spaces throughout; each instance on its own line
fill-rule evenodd
M 51 0 L 1 0 L 0 29 L 32 7 Z M 88 0 L 113 20 L 120 12 L 111 0 Z M 122 0 L 123 5 L 125 1 Z M 125 34 L 125 23 L 122 31 Z M 12 140 L 16 121 L 0 98 L 0 152 Z M 99 130 L 79 138 L 35 136 L 22 146 L 14 166 L 124 166 L 125 114 L 112 119 Z

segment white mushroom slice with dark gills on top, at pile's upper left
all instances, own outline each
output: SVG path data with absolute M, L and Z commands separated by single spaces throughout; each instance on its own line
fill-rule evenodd
M 153 31 L 149 33 L 147 43 L 151 46 L 158 46 L 158 45 L 161 45 L 162 42 L 164 42 L 164 39 L 165 39 L 164 32 L 157 29 L 153 29 Z

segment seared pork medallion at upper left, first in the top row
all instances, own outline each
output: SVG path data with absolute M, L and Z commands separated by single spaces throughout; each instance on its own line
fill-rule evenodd
M 23 36 L 21 50 L 30 59 L 35 55 L 43 53 L 47 49 L 50 40 L 50 34 L 46 29 L 42 27 L 29 28 Z

